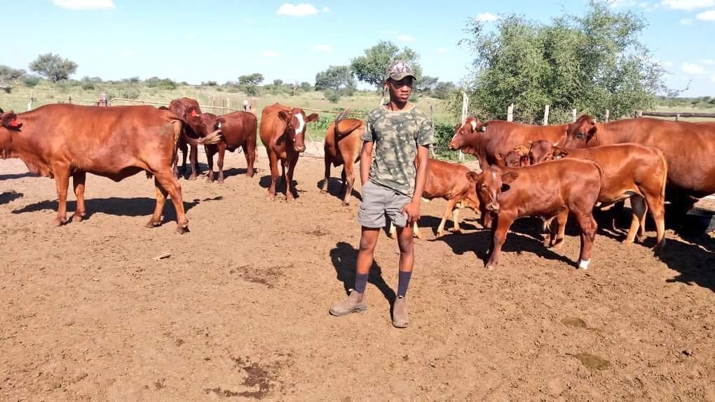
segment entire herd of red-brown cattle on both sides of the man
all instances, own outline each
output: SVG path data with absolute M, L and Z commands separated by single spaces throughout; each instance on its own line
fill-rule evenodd
M 327 191 L 331 166 L 343 165 L 342 203 L 348 205 L 365 124 L 345 114 L 327 129 L 321 191 Z M 161 223 L 169 196 L 176 209 L 177 231 L 184 233 L 188 219 L 177 179 L 179 171 L 187 170 L 187 154 L 189 179 L 197 177 L 199 145 L 206 150 L 209 181 L 215 178 L 213 156 L 218 154 L 217 180 L 222 183 L 225 151 L 239 148 L 245 154 L 247 176 L 253 176 L 260 136 L 270 161 L 269 197 L 275 198 L 282 178 L 290 200 L 295 167 L 305 151 L 306 126 L 317 117 L 274 104 L 263 109 L 259 126 L 254 114 L 202 113 L 197 101 L 188 98 L 158 109 L 51 104 L 20 114 L 0 110 L 0 151 L 3 159 L 20 158 L 34 174 L 54 178 L 59 199 L 54 225 L 66 222 L 70 177 L 77 196 L 72 220 L 81 221 L 86 214 L 87 173 L 120 181 L 145 171 L 147 177 L 154 177 L 157 193 L 147 226 Z M 450 214 L 459 231 L 460 206 L 480 213 L 483 226 L 493 233 L 487 268 L 496 266 L 506 233 L 523 216 L 543 218 L 544 243 L 554 248 L 563 245 L 571 216 L 581 231 L 578 267 L 588 268 L 597 228 L 594 208 L 630 200 L 626 244 L 644 238 L 650 211 L 656 223 L 656 248 L 661 248 L 665 201 L 674 206 L 669 213 L 679 215 L 699 198 L 715 193 L 715 123 L 625 119 L 601 124 L 581 116 L 573 124 L 530 126 L 468 118 L 455 127 L 449 146 L 476 156 L 482 169 L 470 171 L 430 159 L 423 198 L 448 201 L 438 236 L 443 235 Z M 416 224 L 415 236 L 420 236 Z

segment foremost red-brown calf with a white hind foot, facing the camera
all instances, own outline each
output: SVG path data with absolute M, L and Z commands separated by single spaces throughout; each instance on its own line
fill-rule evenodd
M 470 172 L 479 201 L 486 213 L 496 215 L 493 240 L 486 268 L 497 265 L 509 227 L 522 216 L 550 219 L 572 213 L 581 228 L 578 268 L 591 261 L 596 221 L 593 206 L 603 184 L 603 172 L 592 161 L 561 159 L 526 168 L 488 166 L 482 173 Z

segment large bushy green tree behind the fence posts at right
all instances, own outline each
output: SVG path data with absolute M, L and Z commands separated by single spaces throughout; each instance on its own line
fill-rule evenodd
M 666 91 L 663 67 L 638 40 L 645 24 L 631 11 L 617 13 L 591 1 L 583 17 L 566 14 L 550 24 L 506 16 L 494 31 L 470 22 L 462 42 L 475 53 L 470 111 L 536 123 L 546 104 L 550 121 L 568 121 L 571 109 L 603 119 L 629 116 Z M 461 100 L 452 96 L 458 114 Z

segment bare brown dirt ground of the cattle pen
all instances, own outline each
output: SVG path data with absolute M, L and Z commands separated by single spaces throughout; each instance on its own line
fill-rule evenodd
M 51 228 L 54 182 L 0 161 L 1 401 L 715 401 L 710 236 L 669 230 L 656 257 L 653 231 L 626 247 L 601 230 L 580 271 L 575 231 L 555 253 L 525 219 L 485 271 L 488 232 L 463 211 L 463 234 L 417 242 L 398 330 L 385 236 L 368 311 L 327 313 L 352 286 L 358 199 L 341 206 L 337 179 L 320 194 L 321 160 L 300 160 L 293 203 L 267 201 L 265 154 L 252 179 L 243 155 L 226 164 L 223 185 L 180 181 L 178 235 L 170 203 L 144 227 L 144 174 L 89 176 L 89 218 Z

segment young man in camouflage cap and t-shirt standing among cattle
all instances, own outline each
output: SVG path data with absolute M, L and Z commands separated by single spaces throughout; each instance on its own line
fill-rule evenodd
M 365 311 L 365 286 L 373 265 L 373 252 L 378 243 L 385 216 L 398 228 L 400 273 L 397 300 L 393 306 L 393 326 L 406 328 L 409 323 L 405 296 L 415 263 L 412 223 L 420 218 L 420 198 L 425 186 L 428 146 L 433 142 L 429 119 L 410 104 L 415 75 L 404 61 L 390 64 L 385 89 L 390 103 L 368 113 L 368 129 L 363 136 L 360 154 L 360 180 L 363 202 L 358 222 L 363 226 L 356 267 L 355 288 L 344 301 L 330 307 L 333 316 L 346 316 Z M 375 156 L 373 158 L 373 148 Z M 415 156 L 418 161 L 415 167 Z

